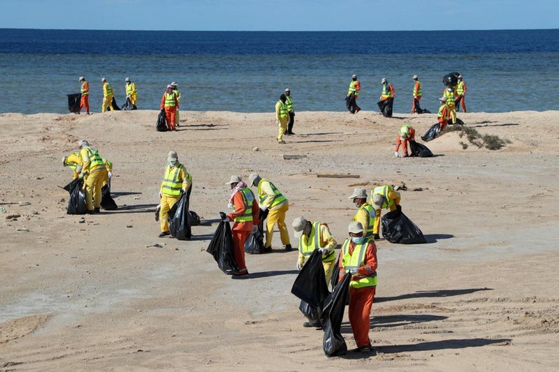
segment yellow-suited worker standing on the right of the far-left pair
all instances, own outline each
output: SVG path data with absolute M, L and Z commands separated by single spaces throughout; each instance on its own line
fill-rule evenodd
M 82 171 L 78 177 L 85 179 L 85 204 L 88 213 L 99 213 L 101 211 L 101 187 L 103 180 L 107 177 L 107 168 L 99 151 L 89 145 L 87 140 L 78 142 L 80 147 L 80 159 Z M 95 204 L 93 204 L 95 200 Z

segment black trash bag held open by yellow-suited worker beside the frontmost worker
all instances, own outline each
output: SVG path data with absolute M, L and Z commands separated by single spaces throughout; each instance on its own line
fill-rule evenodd
M 324 299 L 330 293 L 324 278 L 322 254 L 318 249 L 315 249 L 297 278 L 295 278 L 291 293 L 311 306 L 322 307 Z

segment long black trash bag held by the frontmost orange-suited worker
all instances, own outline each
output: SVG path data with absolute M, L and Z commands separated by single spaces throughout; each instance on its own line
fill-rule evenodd
M 322 309 L 322 327 L 324 337 L 322 338 L 322 348 L 328 357 L 344 355 L 347 352 L 347 345 L 342 336 L 342 320 L 344 318 L 345 304 L 349 297 L 349 281 L 351 274 L 347 273 L 340 283 L 337 283 L 332 294 L 324 302 Z

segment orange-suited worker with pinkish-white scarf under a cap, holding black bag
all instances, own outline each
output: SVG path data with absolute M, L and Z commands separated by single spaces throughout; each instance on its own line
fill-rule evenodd
M 231 186 L 228 207 L 233 211 L 228 215 L 219 212 L 219 215 L 224 221 L 233 221 L 233 257 L 239 268 L 233 276 L 247 276 L 249 271 L 245 263 L 245 242 L 250 232 L 258 229 L 260 209 L 254 194 L 238 175 L 231 176 L 226 184 Z

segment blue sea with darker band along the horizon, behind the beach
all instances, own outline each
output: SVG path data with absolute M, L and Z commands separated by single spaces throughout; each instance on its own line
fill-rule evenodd
M 89 81 L 101 110 L 101 77 L 124 103 L 159 109 L 175 80 L 182 110 L 272 112 L 286 87 L 296 111 L 344 111 L 356 73 L 363 110 L 377 110 L 382 77 L 395 112 L 409 112 L 412 75 L 422 107 L 436 112 L 442 76 L 461 73 L 471 112 L 558 110 L 559 29 L 503 31 L 208 32 L 0 29 L 0 112 L 68 112 L 66 94 Z

